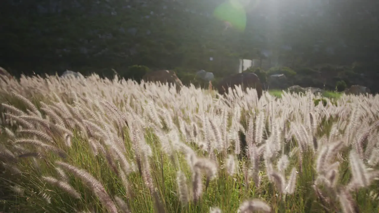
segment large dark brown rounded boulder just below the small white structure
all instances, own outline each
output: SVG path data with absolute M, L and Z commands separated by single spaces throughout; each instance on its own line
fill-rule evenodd
M 234 86 L 241 85 L 242 89 L 246 91 L 246 88 L 254 88 L 257 90 L 258 99 L 262 96 L 262 84 L 257 75 L 251 72 L 243 72 L 238 74 L 232 74 L 222 79 L 218 86 L 218 93 L 223 95 L 228 93 L 228 88 L 234 89 Z

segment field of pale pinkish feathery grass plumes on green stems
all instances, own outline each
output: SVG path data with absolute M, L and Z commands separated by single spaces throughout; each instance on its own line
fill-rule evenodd
M 0 212 L 374 213 L 379 96 L 0 81 Z

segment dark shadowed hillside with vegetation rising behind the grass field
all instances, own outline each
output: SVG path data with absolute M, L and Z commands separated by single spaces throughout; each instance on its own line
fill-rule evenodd
M 125 78 L 146 66 L 174 69 L 186 84 L 199 69 L 217 81 L 236 72 L 238 58 L 255 58 L 275 61 L 249 70 L 262 81 L 284 73 L 301 86 L 379 91 L 379 2 L 251 0 L 244 31 L 213 16 L 223 2 L 2 0 L 0 66 L 15 76 L 69 69 L 111 77 L 114 69 Z

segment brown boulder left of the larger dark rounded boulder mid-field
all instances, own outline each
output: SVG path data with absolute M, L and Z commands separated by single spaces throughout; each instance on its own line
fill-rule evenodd
M 182 81 L 177 77 L 174 71 L 172 70 L 158 70 L 154 72 L 149 72 L 145 74 L 142 79 L 147 82 L 161 82 L 162 84 L 164 83 L 170 83 L 176 85 L 176 90 L 177 92 L 180 91 L 180 89 L 183 86 Z

